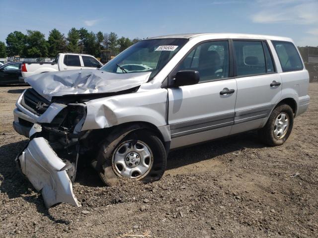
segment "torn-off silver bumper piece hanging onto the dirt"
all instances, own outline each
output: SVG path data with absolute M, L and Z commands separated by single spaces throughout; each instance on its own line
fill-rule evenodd
M 32 139 L 26 149 L 16 157 L 16 162 L 34 188 L 42 192 L 47 208 L 60 202 L 80 206 L 73 193 L 66 164 L 43 137 Z

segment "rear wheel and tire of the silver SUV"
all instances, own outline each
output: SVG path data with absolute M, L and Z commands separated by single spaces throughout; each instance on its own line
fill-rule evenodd
M 293 124 L 293 110 L 290 106 L 281 104 L 273 110 L 265 126 L 258 131 L 258 134 L 260 139 L 269 146 L 282 145 L 292 132 Z M 285 126 L 287 126 L 286 129 L 284 129 Z

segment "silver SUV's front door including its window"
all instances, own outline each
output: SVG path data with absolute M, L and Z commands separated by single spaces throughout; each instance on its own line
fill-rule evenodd
M 234 122 L 237 84 L 229 78 L 229 42 L 197 45 L 173 70 L 172 78 L 185 69 L 198 70 L 200 81 L 168 89 L 171 149 L 229 135 Z

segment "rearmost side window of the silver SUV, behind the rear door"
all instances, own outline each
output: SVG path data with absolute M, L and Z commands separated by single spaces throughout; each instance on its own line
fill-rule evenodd
M 272 41 L 283 72 L 297 71 L 304 68 L 302 60 L 291 42 Z

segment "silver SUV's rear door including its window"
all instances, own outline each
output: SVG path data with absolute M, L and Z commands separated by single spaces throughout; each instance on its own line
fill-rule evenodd
M 233 40 L 232 44 L 238 86 L 234 134 L 264 124 L 280 98 L 282 80 L 266 41 Z

